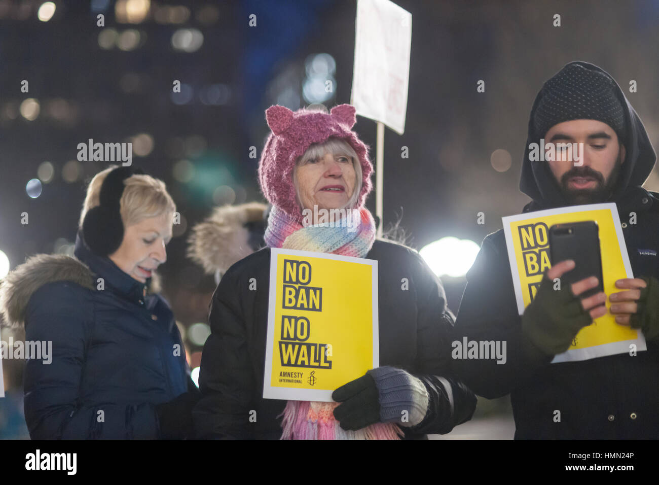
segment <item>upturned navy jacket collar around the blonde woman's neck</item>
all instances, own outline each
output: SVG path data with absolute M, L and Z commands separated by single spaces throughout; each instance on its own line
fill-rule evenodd
M 125 273 L 107 256 L 99 256 L 92 252 L 84 242 L 80 230 L 76 234 L 76 244 L 73 250 L 74 255 L 98 276 L 105 280 L 105 285 L 111 286 L 116 292 L 135 302 L 143 305 L 146 299 L 146 289 L 148 282 L 140 283 L 132 276 Z

